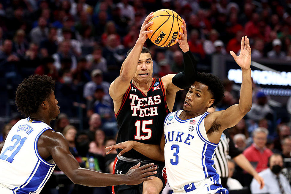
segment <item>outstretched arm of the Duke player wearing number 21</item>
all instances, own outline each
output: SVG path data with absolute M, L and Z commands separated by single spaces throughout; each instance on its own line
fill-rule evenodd
M 155 167 L 149 168 L 153 163 L 143 165 L 142 167 L 139 167 L 139 163 L 130 168 L 126 174 L 106 174 L 81 168 L 78 161 L 69 152 L 69 145 L 63 135 L 48 130 L 45 131 L 40 138 L 42 138 L 40 142 L 43 143 L 42 145 L 38 143 L 39 151 L 49 152 L 56 165 L 58 165 L 61 171 L 63 171 L 74 184 L 82 184 L 89 187 L 104 187 L 120 184 L 134 185 L 151 180 L 151 178 L 145 177 L 156 174 L 156 171 L 150 172 L 156 169 Z

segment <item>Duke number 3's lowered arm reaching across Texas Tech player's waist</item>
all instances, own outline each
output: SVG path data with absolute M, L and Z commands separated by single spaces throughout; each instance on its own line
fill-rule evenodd
M 119 152 L 118 154 L 119 156 L 121 156 L 125 152 L 128 152 L 131 149 L 135 149 L 137 152 L 140 152 L 141 154 L 153 160 L 165 161 L 164 147 L 165 147 L 165 138 L 164 136 L 162 136 L 160 145 L 144 144 L 137 141 L 124 141 L 116 145 L 108 146 L 105 149 L 108 150 L 106 154 L 110 154 L 112 151 L 116 150 L 117 148 L 122 149 L 121 152 Z

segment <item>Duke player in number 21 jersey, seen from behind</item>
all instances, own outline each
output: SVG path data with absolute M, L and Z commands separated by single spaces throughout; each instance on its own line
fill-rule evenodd
M 59 111 L 55 81 L 46 75 L 31 75 L 19 84 L 15 104 L 28 116 L 17 122 L 0 145 L 0 193 L 40 193 L 56 165 L 74 182 L 90 187 L 140 184 L 156 174 L 147 164 L 126 174 L 105 174 L 80 168 L 61 133 L 50 127 Z M 139 167 L 139 168 L 138 168 Z M 150 167 L 150 168 L 149 168 Z

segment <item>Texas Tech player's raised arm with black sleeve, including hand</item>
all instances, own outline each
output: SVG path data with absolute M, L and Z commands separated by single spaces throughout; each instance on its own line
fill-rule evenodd
M 196 64 L 197 61 L 194 58 L 193 54 L 189 50 L 188 39 L 187 39 L 187 29 L 186 22 L 182 19 L 183 25 L 181 28 L 183 29 L 183 33 L 179 32 L 181 35 L 181 40 L 176 40 L 179 43 L 181 50 L 183 51 L 183 59 L 184 59 L 184 71 L 175 74 L 165 75 L 162 78 L 165 89 L 170 94 L 175 94 L 177 91 L 181 89 L 188 89 L 191 84 L 193 84 L 196 80 Z

